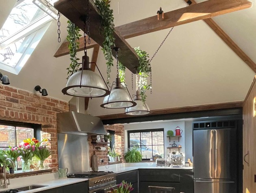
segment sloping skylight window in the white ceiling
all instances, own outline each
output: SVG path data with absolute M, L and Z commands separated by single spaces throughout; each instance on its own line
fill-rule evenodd
M 20 72 L 50 26 L 49 14 L 32 0 L 17 0 L 0 30 L 1 69 L 13 74 Z

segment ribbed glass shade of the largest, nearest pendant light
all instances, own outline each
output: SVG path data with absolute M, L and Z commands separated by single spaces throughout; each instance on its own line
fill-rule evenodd
M 82 82 L 80 87 L 81 75 Z M 104 97 L 110 93 L 104 80 L 91 70 L 80 70 L 72 74 L 62 92 L 78 97 Z

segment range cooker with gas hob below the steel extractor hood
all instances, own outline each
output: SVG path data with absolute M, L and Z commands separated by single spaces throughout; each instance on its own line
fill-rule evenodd
M 113 171 L 89 171 L 68 174 L 67 178 L 88 178 L 89 193 L 106 193 L 111 187 L 115 189 L 116 173 Z

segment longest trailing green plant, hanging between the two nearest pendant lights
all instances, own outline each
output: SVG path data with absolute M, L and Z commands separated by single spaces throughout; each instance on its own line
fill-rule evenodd
M 95 0 L 95 5 L 98 8 L 100 15 L 102 17 L 101 25 L 104 30 L 102 30 L 104 35 L 104 42 L 103 42 L 103 54 L 106 59 L 107 65 L 107 80 L 106 83 L 109 85 L 111 67 L 113 66 L 113 57 L 112 57 L 112 50 L 111 46 L 115 45 L 115 38 L 114 38 L 114 16 L 113 10 L 110 9 L 110 1 L 109 0 Z

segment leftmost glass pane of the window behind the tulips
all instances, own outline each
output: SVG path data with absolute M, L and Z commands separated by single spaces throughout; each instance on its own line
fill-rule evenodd
M 14 127 L 0 125 L 0 147 L 15 146 Z

